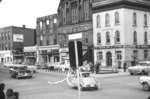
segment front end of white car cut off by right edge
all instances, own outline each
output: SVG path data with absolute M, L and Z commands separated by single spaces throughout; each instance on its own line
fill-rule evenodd
M 150 76 L 142 76 L 140 77 L 140 84 L 143 86 L 143 90 L 150 90 Z

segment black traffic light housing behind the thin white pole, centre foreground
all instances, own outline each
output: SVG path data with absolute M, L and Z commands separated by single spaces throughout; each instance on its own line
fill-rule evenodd
M 77 55 L 78 55 L 78 66 L 83 65 L 82 61 L 82 42 L 77 41 Z M 75 42 L 69 42 L 69 59 L 70 59 L 70 66 L 73 70 L 77 68 L 76 64 L 76 51 L 75 51 Z

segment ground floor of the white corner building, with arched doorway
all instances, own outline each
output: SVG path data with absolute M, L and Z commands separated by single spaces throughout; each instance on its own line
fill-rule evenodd
M 94 62 L 102 67 L 123 68 L 150 60 L 149 46 L 101 46 L 94 48 Z

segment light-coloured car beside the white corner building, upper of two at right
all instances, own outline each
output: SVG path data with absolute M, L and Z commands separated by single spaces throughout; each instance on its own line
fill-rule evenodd
M 147 75 L 150 73 L 150 61 L 141 61 L 136 66 L 128 67 L 128 72 L 131 75 L 134 74 Z

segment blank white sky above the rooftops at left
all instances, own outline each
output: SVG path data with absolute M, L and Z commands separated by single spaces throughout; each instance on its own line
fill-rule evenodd
M 57 13 L 60 0 L 2 0 L 0 28 L 26 25 L 36 28 L 36 18 Z

